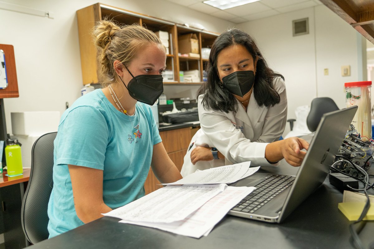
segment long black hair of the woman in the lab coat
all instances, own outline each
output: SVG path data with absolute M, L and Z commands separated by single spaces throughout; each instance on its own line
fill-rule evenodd
M 250 35 L 240 29 L 233 28 L 218 36 L 212 45 L 208 65 L 206 67 L 208 78 L 206 83 L 197 91 L 197 97 L 200 94 L 205 94 L 202 100 L 203 107 L 205 109 L 213 109 L 214 111 L 223 111 L 226 113 L 230 111 L 236 112 L 238 109 L 238 104 L 233 94 L 220 83 L 217 70 L 218 54 L 221 50 L 234 44 L 244 46 L 254 60 L 258 57 L 253 87 L 253 96 L 257 105 L 269 108 L 270 106 L 278 104 L 281 98 L 274 89 L 273 79 L 282 77 L 284 80 L 283 76 L 269 68 L 254 39 Z

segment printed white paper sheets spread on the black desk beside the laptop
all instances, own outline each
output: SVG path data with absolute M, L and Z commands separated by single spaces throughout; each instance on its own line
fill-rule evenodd
M 104 215 L 120 218 L 122 223 L 184 236 L 207 236 L 233 206 L 255 189 L 226 184 L 247 177 L 259 168 L 249 168 L 249 165 L 246 162 L 196 171 Z

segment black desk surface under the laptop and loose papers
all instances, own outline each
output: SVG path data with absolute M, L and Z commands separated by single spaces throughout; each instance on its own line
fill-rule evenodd
M 289 165 L 264 167 L 262 172 L 295 174 Z M 103 217 L 67 233 L 44 240 L 39 248 L 353 248 L 349 221 L 338 211 L 343 194 L 328 183 L 322 184 L 282 224 L 226 215 L 207 237 L 194 239 L 165 231 L 119 223 Z M 374 241 L 374 222 L 360 233 L 365 248 Z

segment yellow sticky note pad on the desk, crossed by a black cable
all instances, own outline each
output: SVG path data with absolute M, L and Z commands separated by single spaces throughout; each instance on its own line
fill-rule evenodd
M 356 221 L 360 217 L 362 210 L 364 209 L 364 202 L 341 202 L 338 203 L 338 209 L 348 218 L 350 221 Z M 371 205 L 364 220 L 374 220 L 374 206 Z

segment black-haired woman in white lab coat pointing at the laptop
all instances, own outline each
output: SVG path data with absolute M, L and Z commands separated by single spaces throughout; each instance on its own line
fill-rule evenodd
M 197 93 L 201 129 L 181 174 L 245 161 L 276 166 L 283 158 L 300 166 L 309 144 L 279 140 L 287 117 L 284 78 L 269 68 L 253 38 L 235 28 L 218 36 L 206 70 L 208 80 Z

